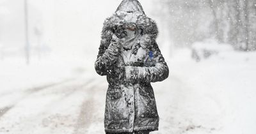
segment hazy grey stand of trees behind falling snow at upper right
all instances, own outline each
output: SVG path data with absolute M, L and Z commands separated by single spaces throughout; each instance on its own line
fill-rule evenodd
M 256 50 L 256 1 L 163 1 L 162 6 L 169 8 L 164 18 L 170 18 L 170 35 L 179 45 L 209 38 L 204 33 L 208 30 L 220 43 L 230 43 L 237 50 Z M 207 17 L 207 20 L 202 17 Z M 211 23 L 202 31 L 205 22 Z

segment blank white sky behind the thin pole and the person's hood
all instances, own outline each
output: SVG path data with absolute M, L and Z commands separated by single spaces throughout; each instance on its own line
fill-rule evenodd
M 24 46 L 24 1 L 0 0 L 0 7 L 9 11 L 1 15 L 0 41 L 8 47 Z M 36 44 L 35 27 L 43 31 L 44 43 L 54 52 L 95 53 L 100 43 L 100 31 L 106 17 L 115 12 L 121 0 L 28 0 L 31 45 Z M 150 3 L 141 0 L 150 16 Z M 15 40 L 13 40 L 15 39 Z M 88 49 L 90 48 L 90 49 Z M 92 49 L 93 48 L 93 49 Z

